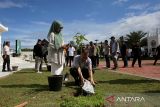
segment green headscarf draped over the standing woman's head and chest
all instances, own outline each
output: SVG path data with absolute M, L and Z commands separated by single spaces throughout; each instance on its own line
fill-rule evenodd
M 61 32 L 56 33 L 56 29 L 62 28 L 62 25 L 58 21 L 54 21 L 48 32 L 48 39 L 50 38 L 51 33 L 54 33 L 54 45 L 56 49 L 59 49 L 62 45 L 63 38 Z

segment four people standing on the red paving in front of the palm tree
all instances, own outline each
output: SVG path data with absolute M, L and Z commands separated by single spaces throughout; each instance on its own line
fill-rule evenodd
M 108 44 L 108 40 L 105 40 L 104 42 L 104 56 L 106 60 L 106 67 L 110 68 L 110 58 L 113 60 L 114 67 L 113 69 L 118 68 L 118 57 L 121 55 L 124 68 L 128 67 L 128 46 L 124 40 L 121 41 L 121 45 L 119 46 L 119 43 L 115 40 L 115 37 L 112 36 L 110 41 L 110 45 Z M 132 46 L 132 56 L 133 56 L 133 62 L 132 67 L 134 67 L 134 64 L 136 60 L 138 59 L 139 67 L 141 67 L 141 47 L 139 43 L 135 43 Z M 111 56 L 111 57 L 110 57 Z

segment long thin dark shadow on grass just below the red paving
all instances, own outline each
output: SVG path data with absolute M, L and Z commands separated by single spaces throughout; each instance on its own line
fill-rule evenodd
M 160 83 L 158 80 L 133 80 L 133 79 L 116 79 L 109 81 L 98 81 L 98 83 L 109 83 L 109 84 L 139 84 L 139 83 Z

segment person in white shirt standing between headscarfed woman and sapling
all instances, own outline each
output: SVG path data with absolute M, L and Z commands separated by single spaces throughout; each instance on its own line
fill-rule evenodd
M 71 63 L 73 62 L 74 54 L 75 54 L 75 48 L 70 44 L 68 48 L 69 67 L 71 67 Z

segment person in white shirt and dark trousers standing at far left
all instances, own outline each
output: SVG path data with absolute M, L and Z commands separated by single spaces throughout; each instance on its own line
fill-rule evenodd
M 5 68 L 6 68 L 6 64 L 7 64 L 7 70 L 11 71 L 10 69 L 10 42 L 7 41 L 5 43 L 5 46 L 3 48 L 3 69 L 2 71 L 5 72 Z

